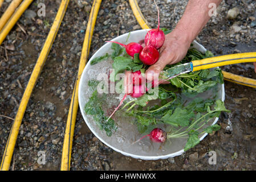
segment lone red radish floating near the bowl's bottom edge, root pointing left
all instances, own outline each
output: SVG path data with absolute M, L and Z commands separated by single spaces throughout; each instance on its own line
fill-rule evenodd
M 152 142 L 157 142 L 157 143 L 164 143 L 166 140 L 166 132 L 158 127 L 156 127 L 155 129 L 153 129 L 151 131 L 150 134 L 145 135 L 143 137 L 141 137 L 139 140 L 137 140 L 136 142 L 139 142 L 140 140 L 142 140 L 145 137 L 149 137 L 151 139 Z M 136 143 L 133 142 L 133 143 Z M 132 144 L 133 144 L 132 143 Z

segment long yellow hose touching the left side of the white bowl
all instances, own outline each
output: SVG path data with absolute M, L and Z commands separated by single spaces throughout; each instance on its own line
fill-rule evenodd
M 88 19 L 87 28 L 86 28 L 86 35 L 84 36 L 84 43 L 82 54 L 80 57 L 80 63 L 78 68 L 78 77 L 76 78 L 72 100 L 70 104 L 70 109 L 68 111 L 68 118 L 66 124 L 66 130 L 64 135 L 64 142 L 63 142 L 63 150 L 62 150 L 62 163 L 60 170 L 61 171 L 68 171 L 70 169 L 70 160 L 71 160 L 71 150 L 72 150 L 72 142 L 74 136 L 74 129 L 75 129 L 75 122 L 76 122 L 76 114 L 78 113 L 78 85 L 80 81 L 80 77 L 83 73 L 83 69 L 86 66 L 87 58 L 90 51 L 92 34 L 94 32 L 94 26 L 97 19 L 97 13 L 100 8 L 101 0 L 94 0 L 92 5 L 90 17 Z

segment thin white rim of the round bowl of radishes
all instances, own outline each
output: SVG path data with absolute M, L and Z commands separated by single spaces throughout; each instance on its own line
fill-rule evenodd
M 137 33 L 140 33 L 140 32 L 143 32 L 143 31 L 148 31 L 150 29 L 144 29 L 144 30 L 136 30 L 136 31 L 131 31 L 132 32 L 137 32 Z M 112 39 L 111 41 L 116 41 L 117 39 L 123 37 L 123 36 L 127 36 L 129 34 L 128 33 L 125 33 L 123 35 L 120 35 L 120 36 L 117 36 L 116 38 Z M 180 150 L 180 151 L 177 151 L 177 152 L 174 152 L 172 154 L 167 154 L 167 155 L 156 155 L 156 156 L 143 156 L 143 155 L 135 155 L 135 154 L 131 154 L 129 152 L 125 152 L 125 151 L 122 151 L 116 147 L 113 147 L 111 146 L 110 144 L 108 144 L 107 142 L 104 141 L 103 138 L 101 138 L 99 135 L 97 135 L 96 131 L 94 131 L 94 129 L 92 129 L 92 127 L 90 126 L 90 124 L 87 122 L 87 119 L 86 119 L 86 114 L 84 113 L 84 110 L 83 110 L 83 107 L 82 107 L 82 98 L 81 98 L 81 88 L 82 88 L 82 82 L 83 82 L 83 78 L 84 78 L 84 75 L 86 74 L 86 70 L 88 68 L 88 66 L 90 65 L 90 62 L 91 60 L 93 60 L 96 56 L 96 54 L 98 52 L 100 52 L 102 49 L 104 49 L 104 47 L 107 47 L 109 44 L 111 43 L 106 43 L 104 44 L 102 47 L 100 47 L 95 53 L 94 55 L 92 55 L 92 57 L 90 58 L 90 60 L 87 62 L 86 64 L 86 67 L 84 67 L 84 70 L 83 70 L 83 73 L 80 77 L 80 82 L 79 82 L 79 87 L 78 87 L 78 102 L 79 102 L 79 108 L 80 108 L 80 111 L 83 115 L 83 119 L 84 121 L 86 122 L 86 125 L 89 127 L 89 129 L 92 131 L 92 133 L 95 135 L 95 137 L 97 137 L 101 142 L 103 142 L 105 145 L 107 145 L 108 147 L 112 148 L 113 150 L 115 150 L 116 152 L 120 152 L 121 154 L 125 155 L 125 156 L 131 156 L 132 158 L 136 158 L 136 159 L 143 159 L 143 160 L 158 160 L 158 159 L 167 159 L 167 158 L 173 158 L 174 156 L 178 156 L 178 155 L 181 155 L 182 153 L 184 153 L 184 149 Z M 192 42 L 193 44 L 193 47 L 197 48 L 197 49 L 201 49 L 198 50 L 200 52 L 205 52 L 206 49 L 204 46 L 202 46 L 200 43 L 196 42 L 196 40 L 194 40 Z M 225 100 L 225 88 L 224 88 L 224 84 L 221 85 L 221 90 L 222 90 L 222 93 L 221 93 L 221 101 L 224 101 Z M 216 124 L 218 121 L 218 117 L 216 117 L 216 119 L 213 121 L 212 125 Z M 203 140 L 208 134 L 205 133 L 204 135 L 202 135 L 202 137 L 200 137 L 200 141 Z

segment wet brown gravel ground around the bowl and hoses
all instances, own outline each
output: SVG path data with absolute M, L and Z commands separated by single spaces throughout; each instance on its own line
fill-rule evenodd
M 0 13 L 7 7 L 3 3 Z M 9 1 L 10 2 L 10 1 Z M 36 15 L 37 4 L 46 3 L 46 17 Z M 161 27 L 174 28 L 187 1 L 159 1 Z M 0 114 L 15 118 L 22 94 L 36 59 L 55 18 L 60 0 L 34 1 L 2 43 L 0 49 Z M 11 163 L 12 170 L 59 170 L 68 107 L 82 50 L 84 31 L 92 1 L 70 1 L 58 36 L 32 93 L 24 115 Z M 152 1 L 139 6 L 152 27 L 157 26 Z M 229 20 L 227 11 L 237 7 L 239 15 Z M 197 40 L 216 55 L 255 51 L 256 2 L 226 0 Z M 22 28 L 21 28 L 22 27 Z M 25 30 L 25 32 L 23 30 Z M 139 30 L 127 1 L 101 3 L 94 30 L 90 56 L 105 40 Z M 224 67 L 225 71 L 256 78 L 252 64 Z M 206 137 L 192 150 L 165 160 L 139 160 L 121 155 L 101 143 L 83 121 L 76 119 L 71 170 L 255 170 L 256 92 L 253 88 L 225 81 L 226 107 L 222 129 Z M 0 158 L 9 135 L 11 119 L 0 117 Z M 208 152 L 217 152 L 217 164 L 208 163 Z M 46 152 L 46 164 L 39 165 L 38 151 Z

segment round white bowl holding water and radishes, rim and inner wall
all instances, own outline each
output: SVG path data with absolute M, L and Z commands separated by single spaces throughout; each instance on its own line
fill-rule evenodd
M 127 44 L 130 42 L 139 42 L 143 40 L 145 34 L 147 34 L 148 30 L 137 30 L 133 31 L 129 35 L 129 39 Z M 128 33 L 124 35 L 120 35 L 117 38 L 113 39 L 113 41 L 117 41 L 120 43 L 124 43 L 127 40 Z M 196 41 L 193 42 L 193 46 L 198 51 L 204 53 L 206 49 Z M 101 131 L 99 127 L 96 126 L 95 122 L 93 121 L 90 115 L 84 113 L 84 106 L 90 97 L 88 94 L 88 86 L 87 81 L 90 80 L 94 75 L 100 72 L 106 72 L 107 69 L 111 68 L 111 63 L 109 61 L 103 61 L 96 65 L 90 65 L 91 60 L 95 57 L 103 56 L 106 52 L 111 52 L 111 43 L 106 43 L 102 46 L 99 50 L 95 52 L 95 54 L 91 57 L 88 61 L 86 67 L 81 76 L 81 80 L 79 83 L 79 90 L 78 90 L 78 99 L 79 99 L 79 106 L 81 113 L 83 115 L 84 121 L 86 121 L 87 126 L 90 128 L 92 133 L 104 144 L 108 147 L 112 148 L 113 150 L 120 152 L 123 155 L 131 156 L 132 158 L 137 159 L 144 159 L 144 160 L 157 160 L 157 159 L 167 159 L 173 158 L 174 156 L 181 155 L 184 150 L 186 141 L 184 139 L 181 140 L 174 140 L 172 144 L 168 147 L 164 148 L 163 150 L 160 148 L 157 150 L 157 144 L 152 144 L 149 139 L 144 138 L 141 142 L 131 145 L 132 142 L 139 139 L 142 135 L 139 134 L 137 131 L 137 127 L 132 125 L 129 122 L 122 122 L 122 121 L 115 121 L 117 123 L 118 129 L 116 132 L 112 134 L 111 137 L 107 137 L 105 131 Z M 220 94 L 218 99 L 222 101 L 225 100 L 225 90 L 224 84 L 220 86 L 218 90 Z M 109 103 L 106 103 L 109 104 Z M 218 118 L 214 119 L 212 125 L 214 125 L 218 121 Z M 204 139 L 207 134 L 204 134 L 200 137 L 200 140 Z M 153 150 L 152 150 L 153 148 Z M 152 151 L 151 151 L 152 150 Z

